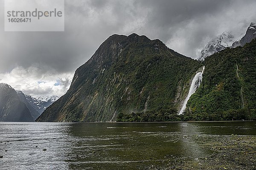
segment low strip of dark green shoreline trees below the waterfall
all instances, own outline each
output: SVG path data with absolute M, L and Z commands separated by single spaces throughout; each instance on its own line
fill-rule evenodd
M 214 113 L 185 113 L 177 115 L 175 109 L 160 109 L 155 111 L 137 112 L 131 114 L 119 113 L 117 122 L 176 122 L 176 121 L 235 121 L 256 120 L 256 110 L 230 109 Z

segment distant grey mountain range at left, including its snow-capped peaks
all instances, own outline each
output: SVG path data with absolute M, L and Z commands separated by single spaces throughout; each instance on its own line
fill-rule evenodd
M 32 97 L 0 83 L 0 121 L 34 122 L 58 96 Z

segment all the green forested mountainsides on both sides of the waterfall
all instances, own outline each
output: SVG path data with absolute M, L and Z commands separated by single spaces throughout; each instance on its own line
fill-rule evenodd
M 200 62 L 160 40 L 113 35 L 76 70 L 67 94 L 37 121 L 256 119 L 255 58 L 256 40 Z M 203 65 L 201 86 L 190 97 L 184 115 L 178 116 L 190 81 Z

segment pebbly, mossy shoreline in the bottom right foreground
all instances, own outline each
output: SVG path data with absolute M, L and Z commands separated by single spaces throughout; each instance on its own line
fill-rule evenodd
M 192 136 L 207 157 L 176 159 L 158 170 L 256 170 L 255 136 Z

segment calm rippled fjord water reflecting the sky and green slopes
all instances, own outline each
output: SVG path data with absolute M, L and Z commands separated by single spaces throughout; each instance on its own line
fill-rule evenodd
M 255 122 L 0 122 L 0 169 L 164 167 L 173 161 L 211 154 L 191 136 L 231 134 L 255 136 Z

